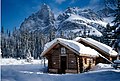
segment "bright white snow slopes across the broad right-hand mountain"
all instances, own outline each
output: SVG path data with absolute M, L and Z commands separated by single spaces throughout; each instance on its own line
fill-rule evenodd
M 91 26 L 89 24 L 90 23 L 101 24 L 104 27 L 107 24 L 107 23 L 102 22 L 100 20 L 90 20 L 90 19 L 87 19 L 87 18 L 82 17 L 82 16 L 78 16 L 78 15 L 71 15 L 64 22 L 72 22 L 72 23 L 76 23 L 76 24 L 78 24 L 80 26 L 86 27 L 86 30 L 90 31 L 89 35 L 95 35 L 95 36 L 98 36 L 98 37 L 102 36 L 102 33 L 100 31 L 98 31 L 95 27 L 93 27 L 93 26 Z M 64 22 L 62 22 L 62 23 L 64 24 Z M 77 31 L 75 31 L 75 30 L 77 30 Z M 75 28 L 75 29 L 73 29 L 71 31 L 73 33 L 77 33 L 77 32 L 80 32 L 80 31 L 84 31 L 84 28 L 77 28 L 77 29 Z

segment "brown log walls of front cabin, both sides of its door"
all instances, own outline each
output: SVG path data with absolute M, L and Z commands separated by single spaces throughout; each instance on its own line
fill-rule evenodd
M 61 70 L 61 47 L 63 46 L 57 45 L 46 54 L 49 72 L 59 73 Z M 80 73 L 89 70 L 95 65 L 95 59 L 93 60 L 93 58 L 90 57 L 79 56 L 67 48 L 66 57 L 66 73 Z M 90 59 L 93 60 L 92 63 L 90 63 Z

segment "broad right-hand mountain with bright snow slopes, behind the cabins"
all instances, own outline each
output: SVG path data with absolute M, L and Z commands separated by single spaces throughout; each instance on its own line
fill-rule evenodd
M 102 31 L 106 26 L 102 17 L 96 14 L 91 9 L 79 9 L 77 7 L 68 8 L 57 17 L 59 21 L 58 31 L 68 32 L 73 34 L 89 34 L 102 36 Z

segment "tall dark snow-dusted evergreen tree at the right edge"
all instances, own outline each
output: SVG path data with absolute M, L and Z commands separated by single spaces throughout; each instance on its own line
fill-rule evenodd
M 118 52 L 118 59 L 120 59 L 120 0 L 116 0 L 116 9 L 115 9 L 115 19 L 113 21 L 114 26 L 114 32 L 113 32 L 113 38 L 114 41 L 112 41 L 113 48 Z

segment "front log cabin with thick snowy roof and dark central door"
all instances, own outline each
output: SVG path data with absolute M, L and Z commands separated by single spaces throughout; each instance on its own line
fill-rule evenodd
M 41 57 L 48 59 L 49 73 L 82 73 L 96 64 L 98 52 L 73 40 L 56 38 L 45 44 Z

